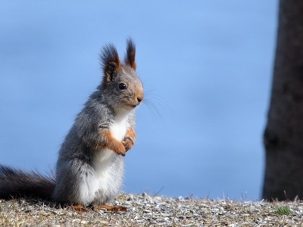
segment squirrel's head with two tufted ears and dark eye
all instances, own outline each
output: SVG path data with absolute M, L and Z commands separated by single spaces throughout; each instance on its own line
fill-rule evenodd
M 143 85 L 135 71 L 135 55 L 132 38 L 126 39 L 126 54 L 122 63 L 112 43 L 105 45 L 99 54 L 104 72 L 100 89 L 114 108 L 132 110 L 142 103 Z

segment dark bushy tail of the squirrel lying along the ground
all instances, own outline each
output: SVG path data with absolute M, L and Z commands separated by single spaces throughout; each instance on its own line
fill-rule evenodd
M 0 199 L 12 196 L 34 196 L 51 199 L 55 188 L 55 177 L 44 176 L 37 171 L 0 165 Z

